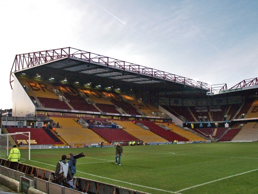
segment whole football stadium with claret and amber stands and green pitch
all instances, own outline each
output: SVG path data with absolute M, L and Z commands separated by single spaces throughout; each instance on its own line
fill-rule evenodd
M 13 191 L 258 193 L 258 78 L 210 86 L 67 47 L 17 54 L 9 83 L 0 184 Z M 7 160 L 14 145 L 15 170 Z M 55 177 L 70 153 L 75 189 Z

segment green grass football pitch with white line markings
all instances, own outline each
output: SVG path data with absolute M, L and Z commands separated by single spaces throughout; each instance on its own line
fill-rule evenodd
M 124 146 L 122 166 L 115 165 L 115 147 L 37 149 L 23 163 L 55 171 L 63 154 L 83 152 L 76 177 L 151 194 L 255 194 L 257 148 L 258 142 Z

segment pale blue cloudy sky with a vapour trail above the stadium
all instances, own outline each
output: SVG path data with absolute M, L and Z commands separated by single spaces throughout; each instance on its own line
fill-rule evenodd
M 72 47 L 210 85 L 258 77 L 258 0 L 0 0 L 0 108 L 16 54 Z

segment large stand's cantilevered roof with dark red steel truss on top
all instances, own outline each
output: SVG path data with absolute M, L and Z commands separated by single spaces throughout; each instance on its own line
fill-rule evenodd
M 202 93 L 210 90 L 210 86 L 203 82 L 71 47 L 16 55 L 10 72 L 11 88 L 13 74 L 114 86 L 121 90 L 148 88 L 155 91 L 197 90 Z

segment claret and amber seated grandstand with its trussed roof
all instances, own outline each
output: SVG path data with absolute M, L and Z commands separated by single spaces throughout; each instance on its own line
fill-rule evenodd
M 10 85 L 4 127 L 42 136 L 43 126 L 54 124 L 43 135 L 57 138 L 49 145 L 258 140 L 257 78 L 217 89 L 67 47 L 16 55 Z

